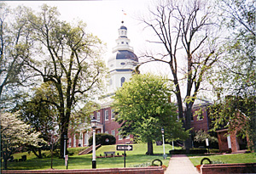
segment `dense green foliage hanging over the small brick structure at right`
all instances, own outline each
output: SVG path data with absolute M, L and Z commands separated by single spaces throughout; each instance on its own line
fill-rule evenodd
M 251 149 L 256 149 L 256 98 L 227 96 L 210 106 L 213 130 L 228 128 L 229 132 L 238 131 L 247 136 Z

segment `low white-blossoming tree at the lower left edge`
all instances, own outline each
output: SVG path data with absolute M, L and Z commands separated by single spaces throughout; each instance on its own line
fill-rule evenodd
M 18 119 L 18 113 L 2 113 L 1 123 L 1 146 L 4 161 L 4 169 L 7 169 L 7 161 L 12 154 L 23 145 L 38 147 L 39 143 L 45 143 L 40 132 L 34 131 L 30 125 Z

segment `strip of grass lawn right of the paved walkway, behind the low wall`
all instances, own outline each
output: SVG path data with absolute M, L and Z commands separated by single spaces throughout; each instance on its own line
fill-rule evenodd
M 220 155 L 210 155 L 210 156 L 191 156 L 189 160 L 194 166 L 200 165 L 201 159 L 209 158 L 212 161 L 219 161 L 225 164 L 232 163 L 256 163 L 256 153 L 249 154 L 220 154 Z

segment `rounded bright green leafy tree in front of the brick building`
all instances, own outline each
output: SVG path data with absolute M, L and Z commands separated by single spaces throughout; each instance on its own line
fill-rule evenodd
M 134 135 L 138 141 L 148 143 L 147 154 L 153 153 L 153 142 L 161 139 L 161 128 L 169 139 L 187 138 L 181 121 L 177 121 L 177 108 L 168 101 L 172 86 L 166 79 L 150 74 L 134 75 L 115 93 L 113 109 L 121 124 L 119 134 Z

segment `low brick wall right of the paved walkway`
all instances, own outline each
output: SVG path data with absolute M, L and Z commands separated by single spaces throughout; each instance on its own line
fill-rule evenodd
M 256 163 L 202 165 L 201 174 L 256 173 Z

